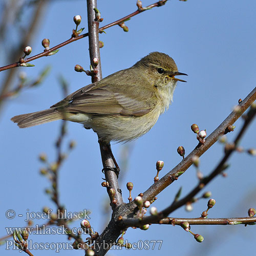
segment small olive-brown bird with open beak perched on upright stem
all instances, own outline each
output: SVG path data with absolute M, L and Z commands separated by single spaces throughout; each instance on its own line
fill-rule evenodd
M 120 70 L 89 84 L 48 110 L 14 116 L 20 128 L 59 119 L 82 123 L 100 140 L 126 142 L 148 132 L 168 109 L 177 81 L 174 60 L 152 52 L 129 69 Z

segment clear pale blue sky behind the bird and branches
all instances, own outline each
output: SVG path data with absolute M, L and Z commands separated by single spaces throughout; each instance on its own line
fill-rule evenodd
M 153 1 L 143 1 L 143 6 Z M 174 102 L 168 112 L 160 116 L 153 129 L 130 144 L 113 145 L 113 152 L 119 163 L 122 162 L 124 147 L 131 149 L 127 158 L 127 172 L 122 177 L 123 198 L 127 201 L 129 193 L 126 182 L 132 181 L 133 197 L 146 190 L 156 175 L 155 163 L 164 161 L 160 177 L 175 167 L 181 157 L 177 147 L 183 145 L 189 153 L 197 145 L 196 136 L 190 125 L 197 123 L 201 130 L 210 134 L 228 116 L 239 98 L 245 98 L 254 88 L 256 80 L 256 2 L 241 1 L 168 1 L 161 8 L 154 8 L 133 17 L 126 22 L 129 32 L 118 26 L 100 34 L 104 42 L 101 49 L 103 77 L 118 70 L 131 67 L 141 57 L 153 51 L 164 52 L 174 58 L 180 72 L 188 74 L 187 83 L 179 83 Z M 104 18 L 102 26 L 113 22 L 136 10 L 136 1 L 98 1 L 98 9 Z M 32 55 L 42 51 L 41 40 L 45 37 L 55 46 L 66 40 L 74 28 L 73 16 L 82 16 L 81 27 L 87 27 L 86 1 L 55 1 L 47 9 L 46 17 L 31 42 Z M 87 31 L 87 28 L 84 30 Z M 34 68 L 20 68 L 29 77 L 36 75 L 51 65 L 51 73 L 40 87 L 27 90 L 8 101 L 0 117 L 1 124 L 1 162 L 2 162 L 2 211 L 0 226 L 2 232 L 7 226 L 23 226 L 24 218 L 7 220 L 5 212 L 14 209 L 17 214 L 40 211 L 43 206 L 55 206 L 44 193 L 48 181 L 39 175 L 42 167 L 38 161 L 41 152 L 47 153 L 49 160 L 55 159 L 54 141 L 59 133 L 60 121 L 18 129 L 10 121 L 14 115 L 49 108 L 62 98 L 58 77 L 63 75 L 70 84 L 70 92 L 91 82 L 84 73 L 76 73 L 74 66 L 89 69 L 88 38 L 84 38 L 60 49 L 51 57 L 33 61 Z M 0 66 L 7 65 L 4 58 Z M 0 74 L 3 80 L 4 72 Z M 15 83 L 14 83 L 15 86 Z M 228 134 L 229 141 L 242 125 Z M 245 148 L 256 147 L 255 121 L 241 141 Z M 66 143 L 74 139 L 76 148 L 60 171 L 60 201 L 68 211 L 91 210 L 91 225 L 101 232 L 104 228 L 105 214 L 102 206 L 108 201 L 105 189 L 101 187 L 101 157 L 97 136 L 93 131 L 84 130 L 77 123 L 68 124 Z M 207 175 L 223 155 L 223 146 L 216 143 L 201 157 L 201 170 Z M 235 153 L 230 161 L 226 178 L 217 177 L 206 188 L 212 192 L 216 205 L 209 211 L 209 218 L 244 217 L 247 210 L 255 207 L 255 165 L 256 158 L 248 154 Z M 122 166 L 121 166 L 122 167 Z M 185 195 L 197 183 L 196 170 L 190 167 L 179 180 L 166 188 L 158 196 L 155 206 L 163 209 L 170 204 L 180 186 Z M 200 200 L 192 212 L 181 208 L 172 217 L 200 217 L 207 208 L 207 200 Z M 42 220 L 35 221 L 41 224 Z M 76 222 L 74 226 L 79 226 Z M 170 253 L 172 255 L 241 255 L 251 252 L 256 234 L 254 226 L 193 226 L 195 233 L 204 236 L 203 243 L 197 243 L 193 236 L 179 226 L 152 225 L 147 231 L 129 229 L 125 239 L 131 243 L 139 240 L 163 240 L 161 251 L 134 251 L 138 253 Z M 31 236 L 33 242 L 67 242 L 65 236 Z M 0 247 L 4 253 L 5 246 Z M 6 255 L 15 252 L 5 251 Z M 17 253 L 17 252 L 16 252 Z M 33 252 L 32 252 L 33 253 Z M 53 252 L 51 252 L 53 253 Z M 63 255 L 70 251 L 63 250 Z M 76 251 L 83 255 L 82 251 Z M 130 251 L 110 251 L 109 255 L 128 255 Z M 43 255 L 44 251 L 35 251 Z

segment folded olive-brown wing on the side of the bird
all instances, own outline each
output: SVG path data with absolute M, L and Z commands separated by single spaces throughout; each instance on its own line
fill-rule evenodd
M 92 83 L 70 94 L 51 108 L 75 113 L 133 116 L 142 116 L 152 110 L 147 101 L 127 97 L 122 90 L 114 93 L 111 89 L 111 86 L 98 87 Z

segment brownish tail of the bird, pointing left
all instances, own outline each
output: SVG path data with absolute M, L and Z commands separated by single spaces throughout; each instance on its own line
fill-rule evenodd
M 11 118 L 20 128 L 26 128 L 42 123 L 48 123 L 62 119 L 63 115 L 56 109 L 42 110 L 34 113 L 18 115 Z

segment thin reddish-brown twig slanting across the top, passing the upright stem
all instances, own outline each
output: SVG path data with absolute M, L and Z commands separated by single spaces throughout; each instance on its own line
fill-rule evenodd
M 110 24 L 108 24 L 106 26 L 103 26 L 103 27 L 99 28 L 99 32 L 102 32 L 104 29 L 107 29 L 107 28 L 113 27 L 115 25 L 118 25 L 118 24 L 120 24 L 122 22 L 125 22 L 125 20 L 127 20 L 127 19 L 129 19 L 129 18 L 131 18 L 131 17 L 133 17 L 133 16 L 135 16 L 135 15 L 137 15 L 137 14 L 143 12 L 143 11 L 146 11 L 146 10 L 151 9 L 153 7 L 163 6 L 166 2 L 167 2 L 167 0 L 163 0 L 163 1 L 159 1 L 159 2 L 157 2 L 155 4 L 149 5 L 149 6 L 145 7 L 145 8 L 143 8 L 143 9 L 138 9 L 137 11 L 135 11 L 135 12 L 133 12 L 133 13 L 123 17 L 123 18 L 118 19 L 118 20 L 116 20 L 113 23 L 110 23 Z M 55 50 L 57 50 L 57 49 L 59 49 L 59 48 L 61 48 L 63 46 L 66 46 L 66 45 L 70 44 L 71 42 L 79 40 L 79 39 L 81 39 L 83 37 L 87 37 L 88 35 L 89 35 L 89 33 L 85 33 L 85 34 L 82 34 L 82 35 L 79 35 L 79 36 L 76 36 L 76 37 L 71 37 L 70 39 L 68 39 L 65 42 L 62 42 L 61 44 L 59 44 L 59 45 L 49 49 L 48 51 L 41 52 L 41 53 L 39 53 L 39 54 L 37 54 L 35 56 L 32 56 L 30 58 L 25 59 L 23 63 L 32 61 L 34 59 L 38 59 L 40 57 L 48 56 L 49 53 L 51 53 L 51 52 L 53 52 L 53 51 L 55 51 Z M 22 52 L 22 50 L 23 49 L 21 49 L 20 52 Z M 19 62 L 14 62 L 14 63 L 12 63 L 10 65 L 4 66 L 4 67 L 0 67 L 0 72 L 4 71 L 4 70 L 7 70 L 7 69 L 16 68 L 16 67 L 19 67 L 19 66 L 20 66 Z

